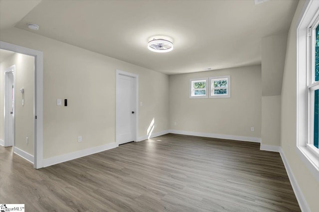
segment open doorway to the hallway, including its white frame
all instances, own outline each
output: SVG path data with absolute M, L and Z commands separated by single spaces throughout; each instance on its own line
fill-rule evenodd
M 43 53 L 0 41 L 0 71 L 0 144 L 42 168 Z

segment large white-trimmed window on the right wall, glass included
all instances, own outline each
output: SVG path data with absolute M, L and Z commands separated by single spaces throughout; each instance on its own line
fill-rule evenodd
M 297 153 L 319 180 L 319 1 L 305 2 L 297 27 Z

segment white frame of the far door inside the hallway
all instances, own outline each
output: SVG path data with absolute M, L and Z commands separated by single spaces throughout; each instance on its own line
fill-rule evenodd
M 13 118 L 12 118 L 12 126 L 13 126 L 13 137 L 12 137 L 12 143 L 9 142 L 9 127 L 8 127 L 8 117 L 7 117 L 7 110 L 11 111 L 12 110 L 12 102 L 11 102 L 11 108 L 9 109 L 9 104 L 8 102 L 6 101 L 7 98 L 8 98 L 8 90 L 11 90 L 12 91 L 12 88 L 11 89 L 8 89 L 8 80 L 9 80 L 9 76 L 8 76 L 8 73 L 11 73 L 13 75 L 13 82 L 12 82 L 12 85 L 13 85 L 13 99 L 14 99 L 14 102 L 13 104 L 15 104 L 15 65 L 12 65 L 10 66 L 9 68 L 6 68 L 4 70 L 4 101 L 3 101 L 3 108 L 4 108 L 4 146 L 14 146 L 14 126 L 15 126 L 15 115 L 14 115 L 14 108 L 15 106 L 13 107 Z

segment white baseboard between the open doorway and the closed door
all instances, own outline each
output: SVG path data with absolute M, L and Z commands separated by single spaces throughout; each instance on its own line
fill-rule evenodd
M 63 155 L 46 158 L 46 159 L 43 159 L 43 167 L 48 167 L 54 164 L 63 163 L 65 161 L 73 160 L 79 157 L 84 157 L 90 154 L 95 154 L 101 151 L 116 148 L 118 146 L 119 145 L 116 142 L 114 142 L 114 143 L 108 143 L 101 146 L 96 146 L 92 148 L 83 149 L 80 151 L 75 151 L 75 152 L 71 152 L 71 153 L 67 153 Z

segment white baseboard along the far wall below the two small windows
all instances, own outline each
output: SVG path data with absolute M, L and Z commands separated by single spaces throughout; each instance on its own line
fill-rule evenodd
M 250 142 L 261 142 L 261 138 L 255 137 L 244 137 L 244 136 L 229 136 L 223 134 L 214 134 L 214 133 L 198 133 L 198 132 L 189 132 L 189 131 L 180 131 L 180 130 L 169 130 L 169 133 L 180 134 L 186 136 L 199 136 L 207 138 L 216 138 L 216 139 L 227 139 L 227 140 L 236 140 L 236 141 L 250 141 Z

